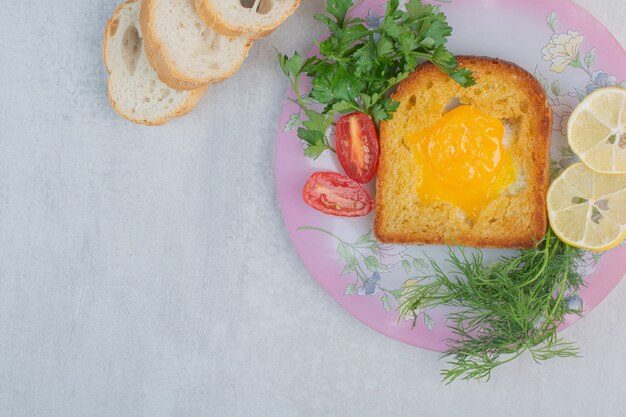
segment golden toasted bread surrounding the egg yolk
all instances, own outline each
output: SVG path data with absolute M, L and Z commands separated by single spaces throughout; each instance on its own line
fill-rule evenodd
M 552 110 L 541 85 L 515 64 L 485 57 L 459 57 L 474 72 L 476 85 L 463 88 L 436 66 L 419 66 L 393 95 L 400 106 L 381 123 L 381 156 L 376 182 L 374 233 L 384 243 L 450 244 L 530 248 L 546 232 Z M 503 142 L 517 172 L 471 221 L 445 201 L 426 204 L 416 192 L 419 167 L 407 135 L 428 128 L 452 103 L 468 104 L 508 126 Z

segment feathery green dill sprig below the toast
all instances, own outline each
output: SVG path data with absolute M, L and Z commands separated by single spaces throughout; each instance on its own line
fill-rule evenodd
M 552 230 L 535 249 L 483 264 L 482 252 L 468 256 L 450 249 L 450 272 L 429 258 L 434 273 L 421 277 L 400 304 L 400 317 L 423 308 L 454 307 L 447 316 L 456 335 L 448 340 L 447 384 L 457 378 L 488 380 L 491 371 L 529 352 L 539 363 L 578 356 L 576 346 L 557 336 L 568 314 L 565 297 L 583 285 L 577 267 L 583 251 L 559 240 Z

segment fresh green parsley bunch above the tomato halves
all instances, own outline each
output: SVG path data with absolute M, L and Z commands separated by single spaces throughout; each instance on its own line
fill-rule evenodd
M 464 87 L 475 84 L 471 71 L 459 69 L 445 48 L 452 28 L 438 7 L 409 0 L 401 10 L 399 0 L 389 0 L 380 25 L 368 28 L 363 19 L 347 16 L 352 5 L 353 0 L 328 0 L 326 14 L 315 16 L 330 29 L 330 36 L 319 44 L 320 56 L 306 60 L 297 52 L 278 56 L 308 118 L 298 137 L 307 143 L 305 154 L 311 158 L 333 150 L 326 131 L 336 113 L 367 113 L 376 124 L 391 119 L 399 103 L 389 91 L 423 61 L 434 63 Z M 312 79 L 306 97 L 299 91 L 303 74 Z M 313 110 L 314 103 L 323 110 Z

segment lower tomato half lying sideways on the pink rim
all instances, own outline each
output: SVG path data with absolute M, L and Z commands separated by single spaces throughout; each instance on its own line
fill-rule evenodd
M 316 172 L 304 184 L 304 202 L 333 216 L 365 216 L 374 208 L 372 197 L 361 184 L 337 172 Z

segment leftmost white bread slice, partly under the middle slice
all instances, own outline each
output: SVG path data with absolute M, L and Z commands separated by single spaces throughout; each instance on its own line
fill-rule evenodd
M 159 80 L 146 58 L 139 27 L 137 0 L 122 3 L 111 16 L 104 35 L 104 64 L 109 73 L 111 106 L 123 118 L 159 125 L 188 113 L 206 91 L 176 91 Z

